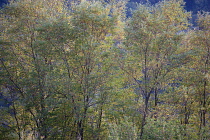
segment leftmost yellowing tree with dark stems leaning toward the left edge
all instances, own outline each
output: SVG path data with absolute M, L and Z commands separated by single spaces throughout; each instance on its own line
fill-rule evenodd
M 48 7 L 49 1 L 11 1 L 2 9 L 3 85 L 12 100 L 19 139 L 27 137 L 22 133 L 25 131 L 38 139 L 48 137 L 46 122 L 51 110 L 48 97 L 53 100 L 53 92 L 46 78 L 52 71 L 48 50 L 38 43 L 37 28 L 62 9 L 62 1 L 53 4 Z

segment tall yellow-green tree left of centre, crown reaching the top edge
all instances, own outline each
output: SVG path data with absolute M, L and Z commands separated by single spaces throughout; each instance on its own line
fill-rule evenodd
M 111 68 L 110 48 L 112 39 L 118 34 L 115 23 L 120 21 L 121 14 L 117 13 L 119 11 L 111 13 L 111 10 L 117 9 L 101 2 L 84 1 L 72 8 L 73 45 L 69 44 L 71 52 L 68 56 L 72 56 L 69 65 L 75 69 L 72 74 L 77 89 L 71 92 L 75 93 L 73 96 L 76 98 L 77 137 L 83 139 L 84 136 L 88 137 L 84 130 L 90 129 L 87 123 L 89 110 L 96 108 L 99 116 L 93 118 L 97 120 L 97 131 L 101 129 L 103 106 L 108 96 L 107 89 L 110 88 L 107 85 Z

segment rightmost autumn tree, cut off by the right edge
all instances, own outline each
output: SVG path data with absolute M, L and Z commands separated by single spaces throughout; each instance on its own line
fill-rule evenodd
M 188 76 L 184 78 L 183 83 L 185 86 L 194 89 L 193 102 L 198 122 L 193 122 L 198 130 L 200 139 L 206 136 L 206 125 L 208 116 L 208 93 L 209 93 L 209 13 L 198 13 L 198 28 L 188 34 L 188 43 L 184 43 L 191 52 L 194 53 L 191 56 L 192 60 L 189 65 L 185 67 Z M 192 113 L 192 114 L 193 114 Z M 199 115 L 197 115 L 199 114 Z

